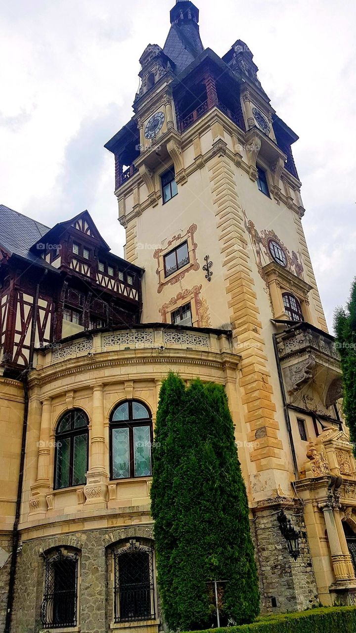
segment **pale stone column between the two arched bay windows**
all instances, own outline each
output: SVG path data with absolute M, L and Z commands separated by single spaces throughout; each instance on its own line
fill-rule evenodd
M 103 385 L 92 388 L 92 420 L 89 436 L 89 470 L 84 487 L 85 505 L 106 508 L 108 473 L 105 467 L 105 429 Z

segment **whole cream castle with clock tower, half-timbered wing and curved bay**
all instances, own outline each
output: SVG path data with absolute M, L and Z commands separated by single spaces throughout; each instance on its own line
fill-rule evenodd
M 158 394 L 223 384 L 263 612 L 356 601 L 356 464 L 291 146 L 246 44 L 177 0 L 115 157 L 125 259 L 87 211 L 0 206 L 0 627 L 158 633 Z

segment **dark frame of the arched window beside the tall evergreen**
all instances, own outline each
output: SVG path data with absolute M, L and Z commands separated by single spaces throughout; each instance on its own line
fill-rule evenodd
M 122 404 L 128 404 L 129 419 L 128 420 L 113 420 L 115 411 Z M 133 416 L 133 404 L 141 404 L 147 411 L 147 418 L 135 418 Z M 149 441 L 150 441 L 150 460 L 151 460 L 151 474 L 150 475 L 135 475 L 135 457 L 134 457 L 134 428 L 136 427 L 149 427 Z M 113 429 L 129 429 L 129 477 L 113 477 Z M 110 481 L 127 481 L 129 479 L 144 479 L 146 477 L 152 477 L 152 446 L 153 446 L 153 423 L 152 413 L 149 410 L 147 404 L 136 398 L 122 400 L 115 404 L 113 410 L 110 413 L 110 432 L 109 432 L 109 477 Z

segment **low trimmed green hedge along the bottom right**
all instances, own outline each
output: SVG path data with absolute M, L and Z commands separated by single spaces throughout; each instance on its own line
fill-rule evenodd
M 258 618 L 253 624 L 199 633 L 355 633 L 356 608 L 336 606 Z M 193 632 L 191 632 L 193 633 Z

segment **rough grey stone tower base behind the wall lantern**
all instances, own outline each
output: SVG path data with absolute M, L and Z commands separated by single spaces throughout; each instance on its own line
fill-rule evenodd
M 319 605 L 312 559 L 305 532 L 302 507 L 286 506 L 284 499 L 254 510 L 253 532 L 260 578 L 262 613 L 301 611 Z M 284 502 L 284 503 L 283 503 Z M 300 530 L 300 557 L 293 560 L 279 530 L 277 514 L 284 510 L 296 530 Z

